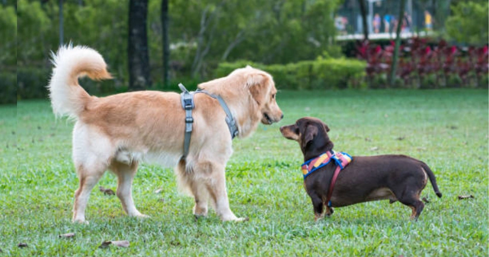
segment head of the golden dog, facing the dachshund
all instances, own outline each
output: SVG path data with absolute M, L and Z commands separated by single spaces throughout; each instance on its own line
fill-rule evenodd
M 246 78 L 246 88 L 258 106 L 261 114 L 261 123 L 267 125 L 272 124 L 280 121 L 284 117 L 275 99 L 277 89 L 270 74 L 263 70 L 252 68 L 251 66 L 237 69 L 231 75 L 235 73 L 241 73 Z

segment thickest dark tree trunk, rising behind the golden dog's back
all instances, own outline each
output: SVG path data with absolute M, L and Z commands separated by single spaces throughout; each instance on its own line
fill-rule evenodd
M 151 85 L 146 16 L 148 0 L 129 1 L 129 90 L 144 90 Z

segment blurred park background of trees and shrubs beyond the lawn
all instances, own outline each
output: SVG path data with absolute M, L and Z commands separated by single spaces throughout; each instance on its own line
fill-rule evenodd
M 487 88 L 487 0 L 0 0 L 1 103 L 46 98 L 51 51 L 98 50 L 90 94 L 177 90 L 247 64 L 279 89 Z

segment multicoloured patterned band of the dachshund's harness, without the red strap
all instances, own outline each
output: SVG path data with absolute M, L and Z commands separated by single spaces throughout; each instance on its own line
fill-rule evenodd
M 326 166 L 331 160 L 334 160 L 336 165 L 342 170 L 352 161 L 353 157 L 347 153 L 335 152 L 333 150 L 327 151 L 320 156 L 310 159 L 302 163 L 302 173 L 304 179 L 311 173 L 317 171 L 319 168 Z

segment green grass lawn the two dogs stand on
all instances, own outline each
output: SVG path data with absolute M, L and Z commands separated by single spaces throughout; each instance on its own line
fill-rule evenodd
M 127 217 L 115 196 L 94 190 L 90 225 L 71 223 L 78 180 L 71 160 L 73 123 L 56 121 L 44 100 L 0 107 L 0 249 L 6 255 L 315 255 L 487 256 L 487 90 L 281 92 L 285 118 L 235 140 L 226 169 L 231 209 L 246 223 L 222 223 L 211 211 L 194 221 L 193 200 L 178 193 L 170 169 L 144 164 L 134 180 L 138 209 Z M 303 189 L 302 154 L 278 127 L 315 116 L 331 128 L 335 149 L 351 155 L 403 153 L 434 171 L 431 203 L 418 222 L 399 203 L 376 201 L 336 208 L 313 222 Z M 116 189 L 106 173 L 100 186 Z M 156 189 L 163 192 L 156 194 Z M 472 194 L 473 199 L 458 200 Z M 73 232 L 74 238 L 58 238 Z M 128 240 L 129 248 L 99 249 Z M 18 243 L 28 247 L 18 248 Z

